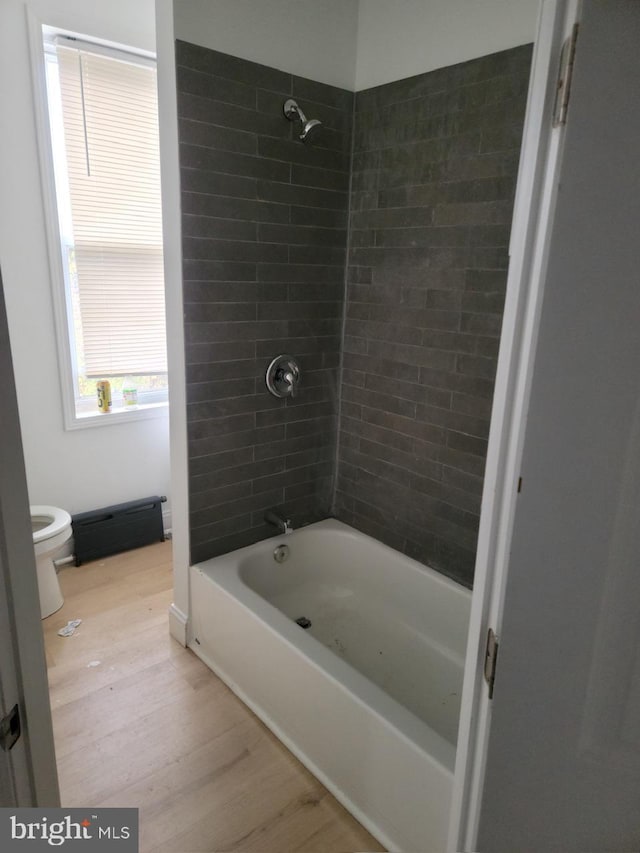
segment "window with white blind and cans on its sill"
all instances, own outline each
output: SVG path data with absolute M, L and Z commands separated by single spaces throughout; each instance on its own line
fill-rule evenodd
M 166 404 L 156 70 L 75 38 L 45 40 L 64 279 L 67 426 Z M 68 342 L 68 347 L 66 346 Z M 97 407 L 109 380 L 112 415 Z M 135 388 L 137 405 L 125 388 Z M 126 402 L 126 405 L 125 405 Z

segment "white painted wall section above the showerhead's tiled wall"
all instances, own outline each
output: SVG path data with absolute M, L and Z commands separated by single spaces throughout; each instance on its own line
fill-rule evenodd
M 354 88 L 358 0 L 174 0 L 173 5 L 178 39 Z

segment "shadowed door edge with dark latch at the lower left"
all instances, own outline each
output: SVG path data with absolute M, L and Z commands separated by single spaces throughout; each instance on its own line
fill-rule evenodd
M 22 734 L 0 750 L 0 806 L 59 806 L 49 686 L 13 362 L 0 282 L 0 715 Z

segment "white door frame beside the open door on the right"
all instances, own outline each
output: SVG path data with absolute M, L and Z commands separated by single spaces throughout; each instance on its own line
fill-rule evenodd
M 580 0 L 543 0 L 533 55 L 509 249 L 509 274 L 467 643 L 449 851 L 475 850 L 491 701 L 484 682 L 489 628 L 500 637 L 524 429 L 538 337 L 563 128 L 552 127 L 560 51 Z

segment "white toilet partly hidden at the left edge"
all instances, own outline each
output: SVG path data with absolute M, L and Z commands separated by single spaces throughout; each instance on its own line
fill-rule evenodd
M 32 506 L 31 529 L 38 571 L 40 615 L 45 619 L 64 604 L 53 557 L 71 538 L 71 516 L 57 506 Z

